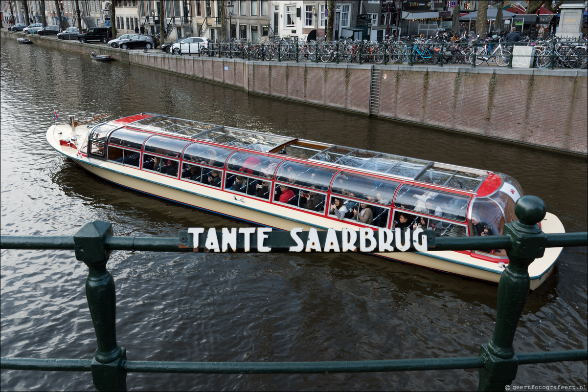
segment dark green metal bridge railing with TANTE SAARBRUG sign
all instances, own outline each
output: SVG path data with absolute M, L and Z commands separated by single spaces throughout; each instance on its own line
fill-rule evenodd
M 433 232 L 413 233 L 413 241 L 405 237 L 402 247 L 415 250 L 426 244 L 428 250 L 506 249 L 509 264 L 500 276 L 497 295 L 496 324 L 493 336 L 480 347 L 477 357 L 392 359 L 365 361 L 318 362 L 172 362 L 133 361 L 126 359 L 124 347 L 116 340 L 115 282 L 106 269 L 113 250 L 152 252 L 305 252 L 302 243 L 316 235 L 320 244 L 328 243 L 328 232 L 271 232 L 269 229 L 181 230 L 178 238 L 114 236 L 108 222 L 86 223 L 74 236 L 1 236 L 1 249 L 71 249 L 76 259 L 88 266 L 85 289 L 96 333 L 97 349 L 93 359 L 32 359 L 3 357 L 2 369 L 89 371 L 99 391 L 126 390 L 127 373 L 211 373 L 211 374 L 292 374 L 292 373 L 363 373 L 375 371 L 479 369 L 480 391 L 505 390 L 523 364 L 588 359 L 588 350 L 515 353 L 513 339 L 517 323 L 530 289 L 529 264 L 542 257 L 546 247 L 586 246 L 588 233 L 545 234 L 537 223 L 543 220 L 546 207 L 535 196 L 521 197 L 515 206 L 519 220 L 505 225 L 501 236 L 435 237 Z M 234 232 L 233 232 L 234 230 Z M 255 233 L 255 235 L 252 235 Z M 233 234 L 233 235 L 231 235 Z M 349 233 L 347 233 L 349 234 Z M 399 234 L 399 232 L 396 232 Z M 339 248 L 345 247 L 345 234 L 336 232 Z M 357 234 L 356 234 L 357 235 Z M 361 232 L 360 232 L 361 236 Z M 348 239 L 349 240 L 349 237 Z M 371 246 L 379 247 L 383 237 L 372 236 Z M 331 237 L 331 246 L 334 245 Z M 315 240 L 314 246 L 319 246 Z M 222 246 L 221 246 L 222 244 Z M 396 242 L 396 244 L 398 244 Z M 347 246 L 366 246 L 365 238 Z M 389 245 L 389 244 L 388 244 Z M 398 247 L 398 246 L 397 246 Z M 323 249 L 324 246 L 320 246 Z M 396 250 L 397 251 L 397 250 Z

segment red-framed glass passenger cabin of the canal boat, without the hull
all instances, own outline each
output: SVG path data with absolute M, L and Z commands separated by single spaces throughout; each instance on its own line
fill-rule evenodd
M 321 216 L 436 236 L 498 235 L 524 195 L 512 177 L 486 170 L 156 113 L 95 126 L 79 153 L 296 209 L 309 225 Z M 506 259 L 504 250 L 473 253 Z

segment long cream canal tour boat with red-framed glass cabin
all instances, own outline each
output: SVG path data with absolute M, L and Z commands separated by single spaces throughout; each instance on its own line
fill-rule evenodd
M 291 230 L 410 227 L 436 236 L 502 234 L 523 196 L 510 176 L 160 115 L 140 113 L 94 127 L 51 126 L 49 144 L 79 166 L 131 190 Z M 77 126 L 76 126 L 77 125 Z M 563 233 L 547 213 L 543 232 Z M 562 248 L 529 266 L 536 289 Z M 401 262 L 498 282 L 504 249 L 373 253 Z

